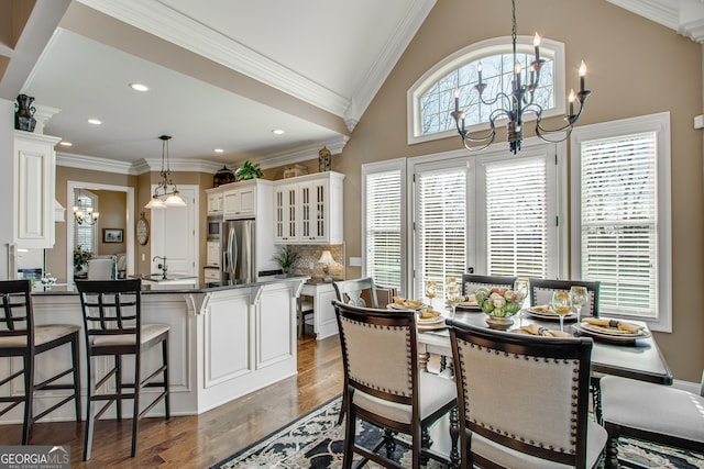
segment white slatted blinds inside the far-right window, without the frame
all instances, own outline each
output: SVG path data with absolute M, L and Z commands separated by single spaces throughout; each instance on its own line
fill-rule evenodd
M 657 133 L 582 143 L 582 278 L 609 314 L 657 317 Z

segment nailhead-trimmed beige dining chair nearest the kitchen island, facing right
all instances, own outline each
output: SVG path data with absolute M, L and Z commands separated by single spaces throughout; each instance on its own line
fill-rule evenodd
M 408 447 L 413 467 L 428 451 L 428 428 L 457 404 L 454 382 L 421 372 L 418 362 L 416 313 L 353 306 L 333 302 L 344 368 L 342 405 L 346 409 L 343 467 L 350 468 L 353 454 L 384 467 L 403 467 L 389 460 L 389 449 Z M 385 429 L 386 437 L 374 448 L 356 442 L 356 421 L 361 418 Z M 410 442 L 394 432 L 410 435 Z M 386 446 L 386 455 L 380 449 Z

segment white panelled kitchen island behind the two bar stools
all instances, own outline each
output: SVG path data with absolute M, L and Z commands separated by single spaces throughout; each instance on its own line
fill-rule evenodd
M 200 288 L 196 284 L 153 286 L 143 281 L 142 322 L 163 323 L 169 331 L 170 412 L 173 415 L 200 414 L 233 399 L 296 375 L 296 304 L 307 277 L 275 278 L 229 286 Z M 78 293 L 73 288 L 55 288 L 33 293 L 36 324 L 65 323 L 82 327 Z M 85 397 L 86 361 L 84 335 L 80 335 L 81 394 Z M 161 361 L 158 350 L 144 355 L 143 370 L 153 370 Z M 36 361 L 36 380 L 48 368 L 69 364 L 69 349 L 42 354 Z M 18 362 L 19 364 L 19 362 Z M 99 361 L 98 367 L 102 364 Z M 105 365 L 103 365 L 105 366 Z M 132 368 L 125 362 L 125 373 Z M 13 362 L 0 360 L 0 376 L 7 376 Z M 129 375 L 128 375 L 129 376 Z M 13 392 L 22 392 L 15 380 Z M 148 389 L 144 390 L 150 401 Z M 34 401 L 41 412 L 64 395 L 40 395 Z M 84 399 L 85 401 L 85 399 Z M 132 413 L 131 401 L 123 416 Z M 85 406 L 85 405 L 81 405 Z M 0 423 L 21 423 L 22 406 L 0 418 Z M 84 411 L 85 412 L 85 409 Z M 163 403 L 150 415 L 163 415 Z M 114 406 L 103 418 L 114 418 Z M 43 421 L 75 420 L 72 405 L 64 405 Z

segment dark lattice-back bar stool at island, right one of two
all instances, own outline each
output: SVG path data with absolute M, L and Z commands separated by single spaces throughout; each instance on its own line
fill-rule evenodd
M 117 418 L 122 420 L 122 400 L 133 400 L 132 454 L 136 454 L 136 433 L 139 421 L 157 403 L 164 401 L 166 420 L 169 418 L 168 397 L 168 330 L 167 324 L 142 324 L 141 281 L 129 280 L 76 280 L 84 312 L 84 332 L 86 335 L 86 359 L 88 370 L 86 434 L 84 460 L 90 459 L 95 420 L 116 403 Z M 161 344 L 162 364 L 142 378 L 143 354 Z M 123 381 L 122 356 L 134 356 L 134 377 L 132 382 Z M 106 357 L 105 368 L 94 364 L 95 357 Z M 110 360 L 114 361 L 110 365 Z M 96 378 L 96 370 L 108 371 Z M 162 376 L 161 380 L 154 380 Z M 114 377 L 114 379 L 111 379 Z M 113 383 L 114 389 L 108 383 Z M 140 411 L 140 393 L 143 388 L 161 388 L 154 400 Z M 100 389 L 102 391 L 98 392 Z M 132 392 L 125 392 L 132 390 Z M 96 402 L 105 402 L 96 413 Z

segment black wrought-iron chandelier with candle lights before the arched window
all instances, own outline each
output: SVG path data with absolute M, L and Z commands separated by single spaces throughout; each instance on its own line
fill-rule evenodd
M 512 13 L 513 13 L 513 30 L 512 42 L 514 53 L 514 72 L 512 80 L 512 91 L 506 93 L 499 91 L 494 99 L 485 100 L 483 92 L 486 89 L 486 83 L 482 81 L 482 63 L 480 62 L 476 67 L 479 75 L 479 82 L 474 86 L 474 89 L 480 94 L 480 101 L 484 105 L 494 107 L 497 104 L 490 116 L 490 130 L 485 133 L 470 135 L 464 129 L 464 111 L 460 111 L 460 90 L 454 90 L 454 112 L 451 113 L 455 121 L 458 133 L 462 137 L 464 147 L 469 150 L 482 150 L 494 143 L 496 138 L 496 120 L 507 118 L 506 124 L 507 139 L 512 153 L 515 155 L 520 149 L 520 144 L 524 139 L 524 115 L 532 112 L 536 115 L 536 135 L 549 143 L 557 143 L 566 139 L 572 132 L 572 127 L 582 115 L 584 109 L 584 102 L 591 94 L 591 91 L 584 89 L 584 76 L 586 75 L 586 66 L 584 62 L 580 66 L 580 91 L 574 92 L 570 90 L 569 102 L 570 113 L 564 116 L 566 122 L 559 129 L 546 129 L 542 126 L 542 107 L 534 101 L 534 94 L 538 88 L 540 81 L 540 68 L 544 64 L 544 59 L 540 58 L 540 36 L 536 33 L 534 40 L 535 58 L 530 63 L 529 70 L 526 70 L 525 78 L 521 75 L 520 63 L 517 60 L 516 54 L 516 0 L 512 0 Z M 529 71 L 529 72 L 528 72 Z M 574 101 L 579 102 L 579 110 L 574 112 Z M 566 132 L 566 135 L 559 135 Z M 474 145 L 472 145 L 474 144 Z

